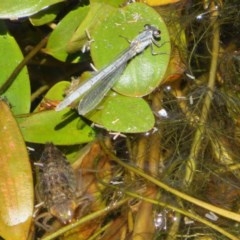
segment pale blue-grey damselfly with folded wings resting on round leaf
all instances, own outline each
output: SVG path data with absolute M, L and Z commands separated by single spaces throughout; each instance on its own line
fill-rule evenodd
M 113 87 L 129 60 L 143 52 L 149 45 L 154 44 L 159 47 L 157 41 L 161 39 L 160 34 L 160 30 L 156 27 L 149 24 L 145 25 L 144 30 L 131 41 L 130 46 L 115 61 L 101 69 L 96 75 L 66 96 L 55 110 L 60 111 L 66 108 L 80 97 L 82 99 L 78 105 L 78 113 L 85 115 L 93 110 Z

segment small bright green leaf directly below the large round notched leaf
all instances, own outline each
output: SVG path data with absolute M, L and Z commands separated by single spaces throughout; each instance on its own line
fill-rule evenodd
M 94 123 L 109 131 L 138 133 L 153 128 L 154 117 L 142 98 L 133 98 L 112 92 L 98 107 L 87 115 Z

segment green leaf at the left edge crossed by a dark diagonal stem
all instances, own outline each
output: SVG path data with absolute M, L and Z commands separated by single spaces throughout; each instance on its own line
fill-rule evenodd
M 15 39 L 7 33 L 7 29 L 0 21 L 0 86 L 14 71 L 16 66 L 23 60 L 23 55 Z M 6 97 L 12 105 L 14 114 L 28 113 L 30 110 L 30 81 L 27 68 L 24 67 L 14 79 L 11 86 L 1 95 Z

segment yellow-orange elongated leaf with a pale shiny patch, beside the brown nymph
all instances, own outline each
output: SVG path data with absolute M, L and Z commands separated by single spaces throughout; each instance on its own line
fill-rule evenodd
M 32 170 L 16 120 L 5 102 L 0 109 L 0 236 L 25 240 L 33 214 Z

